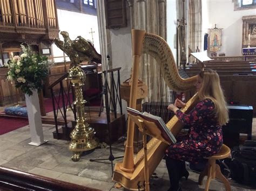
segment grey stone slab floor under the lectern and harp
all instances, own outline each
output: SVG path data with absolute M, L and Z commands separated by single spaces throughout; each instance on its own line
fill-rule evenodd
M 108 146 L 87 152 L 78 162 L 73 162 L 71 160 L 72 153 L 68 149 L 69 141 L 53 139 L 52 132 L 55 131 L 55 126 L 44 124 L 43 131 L 44 139 L 48 142 L 38 147 L 28 145 L 30 142 L 29 126 L 1 135 L 0 165 L 102 190 L 122 189 L 114 188 L 114 182 L 111 181 L 112 170 L 109 160 L 89 161 L 89 159 L 107 159 L 110 154 Z M 114 156 L 124 154 L 123 145 L 123 140 L 113 144 Z M 121 160 L 114 160 L 114 162 Z M 167 190 L 169 180 L 164 160 L 160 162 L 156 173 L 158 178 L 150 180 L 151 190 Z M 198 186 L 198 176 L 199 174 L 190 170 L 188 180 L 181 181 L 181 188 L 183 190 L 204 190 L 204 186 Z M 239 185 L 232 180 L 230 182 L 232 190 L 255 190 Z M 225 187 L 223 183 L 213 180 L 210 190 L 225 190 Z

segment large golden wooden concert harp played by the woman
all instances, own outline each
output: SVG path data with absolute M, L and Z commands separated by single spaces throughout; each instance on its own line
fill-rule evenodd
M 179 76 L 178 69 L 169 45 L 165 40 L 157 35 L 146 33 L 144 30 L 132 30 L 132 77 L 130 107 L 136 108 L 136 95 L 139 76 L 139 62 L 142 53 L 150 54 L 159 64 L 161 73 L 167 86 L 173 91 L 185 92 L 193 88 L 196 83 L 196 76 L 183 79 Z M 197 95 L 194 95 L 183 108 L 183 112 L 188 112 L 198 102 Z M 174 116 L 166 126 L 172 134 L 176 136 L 183 125 Z M 120 183 L 124 188 L 137 190 L 143 187 L 144 176 L 144 151 L 143 149 L 133 157 L 133 134 L 134 122 L 128 119 L 127 141 L 125 146 L 124 160 L 116 163 L 112 180 Z M 164 156 L 164 151 L 168 145 L 160 140 L 153 138 L 147 143 L 147 163 L 149 166 L 149 175 L 152 175 Z M 142 188 L 140 188 L 142 189 Z

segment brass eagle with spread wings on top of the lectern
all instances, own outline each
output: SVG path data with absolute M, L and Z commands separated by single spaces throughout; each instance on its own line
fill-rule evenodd
M 55 44 L 65 52 L 70 60 L 71 66 L 78 65 L 83 61 L 102 63 L 102 56 L 95 50 L 90 42 L 87 42 L 83 37 L 78 36 L 75 40 L 69 38 L 69 33 L 66 31 L 60 32 L 64 42 L 60 39 L 54 39 Z

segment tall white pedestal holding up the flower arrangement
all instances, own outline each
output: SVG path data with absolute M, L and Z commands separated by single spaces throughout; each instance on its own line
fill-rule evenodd
M 47 142 L 44 140 L 42 118 L 37 90 L 32 90 L 32 95 L 25 94 L 26 109 L 28 111 L 31 142 L 29 145 L 40 146 Z

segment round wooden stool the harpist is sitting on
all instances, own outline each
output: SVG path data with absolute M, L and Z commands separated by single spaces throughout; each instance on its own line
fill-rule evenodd
M 211 179 L 218 178 L 219 180 L 224 182 L 225 188 L 227 191 L 231 191 L 230 182 L 225 178 L 225 176 L 221 173 L 220 166 L 216 164 L 216 160 L 225 159 L 230 155 L 230 148 L 226 145 L 222 145 L 219 153 L 207 158 L 208 163 L 204 169 L 204 171 L 199 175 L 198 184 L 203 185 L 203 180 L 205 176 L 207 177 L 207 182 L 205 186 L 205 190 L 207 191 L 210 186 Z

